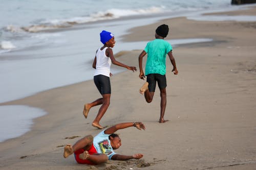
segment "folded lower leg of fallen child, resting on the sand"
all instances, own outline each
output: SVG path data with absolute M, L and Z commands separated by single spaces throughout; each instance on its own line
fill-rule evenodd
M 109 159 L 105 154 L 90 155 L 88 151 L 84 151 L 82 154 L 80 154 L 79 158 L 83 160 L 88 159 L 94 164 L 104 163 Z

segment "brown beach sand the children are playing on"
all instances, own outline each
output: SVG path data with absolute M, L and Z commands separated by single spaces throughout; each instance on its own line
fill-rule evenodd
M 153 40 L 162 23 L 171 27 L 166 39 L 213 41 L 174 47 L 177 76 L 167 59 L 167 123 L 158 123 L 158 87 L 151 104 L 139 93 L 144 83 L 139 71 L 111 78 L 111 105 L 101 125 L 143 122 L 145 131 L 118 131 L 122 147 L 116 151 L 143 153 L 142 160 L 111 160 L 92 167 L 77 164 L 73 156 L 63 158 L 65 144 L 100 132 L 91 126 L 99 107 L 92 108 L 87 119 L 82 114 L 84 103 L 100 98 L 93 81 L 86 81 L 2 104 L 28 105 L 49 114 L 36 118 L 25 135 L 0 143 L 0 169 L 256 169 L 256 22 L 180 17 L 134 28 L 123 40 Z M 117 60 L 138 68 L 141 51 L 123 52 Z

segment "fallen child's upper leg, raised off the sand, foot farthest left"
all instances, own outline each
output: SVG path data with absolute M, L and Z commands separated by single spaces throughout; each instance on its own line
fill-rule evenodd
M 73 154 L 75 151 L 82 149 L 82 148 L 84 150 L 89 150 L 92 147 L 92 144 L 93 144 L 93 136 L 92 135 L 88 135 L 88 136 L 85 136 L 85 137 L 79 139 L 73 145 L 73 147 L 71 146 L 71 144 L 67 144 L 64 148 L 63 157 L 67 158 L 69 155 Z

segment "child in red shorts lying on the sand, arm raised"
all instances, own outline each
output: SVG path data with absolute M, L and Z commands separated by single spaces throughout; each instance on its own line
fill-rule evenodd
M 100 132 L 94 138 L 92 135 L 88 135 L 78 140 L 73 146 L 67 144 L 64 148 L 63 157 L 67 158 L 74 153 L 77 163 L 82 164 L 100 164 L 110 159 L 140 159 L 143 157 L 142 154 L 119 155 L 113 151 L 122 145 L 120 137 L 115 132 L 133 126 L 139 130 L 145 130 L 145 126 L 141 122 L 117 124 Z

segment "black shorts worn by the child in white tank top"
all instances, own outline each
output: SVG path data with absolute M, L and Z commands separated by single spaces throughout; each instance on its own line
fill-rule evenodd
M 93 80 L 101 95 L 111 94 L 110 78 L 108 76 L 97 75 L 94 76 Z

